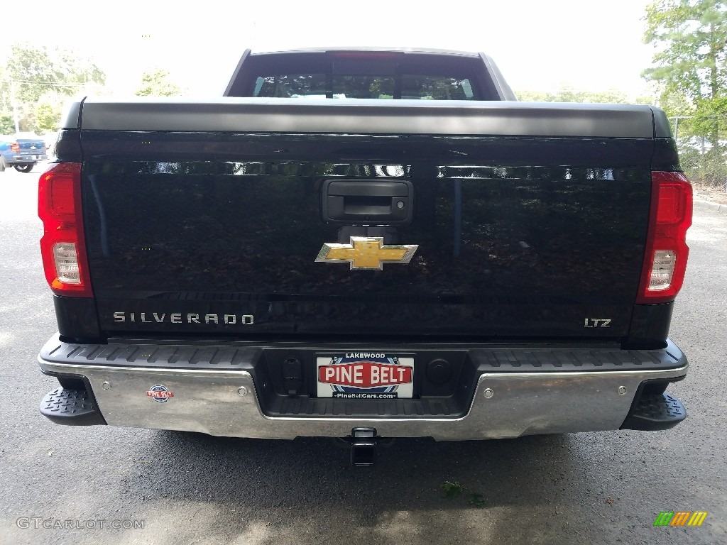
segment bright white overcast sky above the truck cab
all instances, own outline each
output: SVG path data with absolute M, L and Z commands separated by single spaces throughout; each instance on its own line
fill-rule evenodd
M 192 96 L 219 95 L 246 47 L 436 47 L 483 51 L 515 90 L 648 86 L 640 72 L 648 0 L 167 3 L 46 1 L 4 20 L 0 56 L 14 41 L 94 57 L 114 94 L 132 93 L 145 68 L 166 68 Z M 25 7 L 23 8 L 25 9 Z M 6 14 L 7 9 L 4 10 Z

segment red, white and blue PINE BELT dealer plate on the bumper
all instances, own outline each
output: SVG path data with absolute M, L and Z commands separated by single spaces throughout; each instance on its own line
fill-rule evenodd
M 411 399 L 414 358 L 389 352 L 316 355 L 318 397 Z

